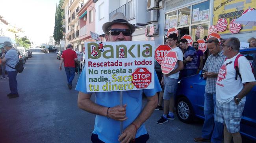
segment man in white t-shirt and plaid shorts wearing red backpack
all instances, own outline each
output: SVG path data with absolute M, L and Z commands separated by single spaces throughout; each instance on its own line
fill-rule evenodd
M 241 56 L 238 69 L 241 78 L 236 79 L 234 63 L 239 53 L 238 38 L 228 38 L 223 43 L 223 54 L 227 60 L 221 66 L 216 82 L 216 121 L 224 125 L 224 142 L 242 143 L 240 121 L 245 106 L 245 95 L 256 85 L 250 62 Z

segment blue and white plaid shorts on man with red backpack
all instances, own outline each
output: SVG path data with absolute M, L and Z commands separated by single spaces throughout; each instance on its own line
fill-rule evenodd
M 228 103 L 219 103 L 219 101 L 216 101 L 215 120 L 225 124 L 228 132 L 239 132 L 244 107 L 245 103 L 241 101 L 238 105 L 236 105 L 234 100 Z

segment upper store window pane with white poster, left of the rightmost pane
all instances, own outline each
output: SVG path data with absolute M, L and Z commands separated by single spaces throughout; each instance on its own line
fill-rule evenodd
M 178 26 L 190 24 L 190 6 L 178 10 Z

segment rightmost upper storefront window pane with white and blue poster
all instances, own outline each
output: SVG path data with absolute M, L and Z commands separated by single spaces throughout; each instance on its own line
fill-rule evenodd
M 192 6 L 192 24 L 209 21 L 209 0 Z

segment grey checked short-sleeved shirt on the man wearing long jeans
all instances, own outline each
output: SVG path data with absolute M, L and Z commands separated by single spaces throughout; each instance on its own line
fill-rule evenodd
M 221 66 L 225 62 L 226 56 L 223 55 L 223 50 L 219 52 L 217 55 L 211 54 L 204 65 L 204 71 L 207 72 L 217 72 L 219 73 L 219 69 L 221 69 Z M 207 93 L 216 93 L 216 80 L 215 78 L 206 78 L 206 86 L 205 86 L 205 92 Z

